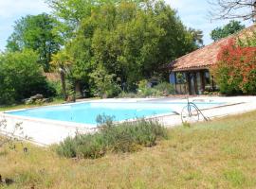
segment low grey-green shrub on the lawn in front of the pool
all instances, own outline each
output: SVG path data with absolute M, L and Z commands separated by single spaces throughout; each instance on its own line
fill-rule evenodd
M 94 134 L 77 134 L 67 138 L 57 147 L 59 155 L 72 158 L 100 158 L 107 151 L 133 152 L 141 146 L 155 146 L 156 140 L 167 138 L 167 129 L 156 122 L 137 122 L 114 125 L 112 118 L 98 117 L 100 130 Z

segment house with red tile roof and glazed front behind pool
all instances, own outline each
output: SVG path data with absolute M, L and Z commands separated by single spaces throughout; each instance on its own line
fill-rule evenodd
M 215 90 L 217 86 L 210 75 L 210 67 L 217 63 L 221 47 L 227 45 L 230 39 L 243 39 L 253 33 L 256 33 L 255 25 L 172 61 L 167 68 L 176 94 L 203 94 L 208 88 Z

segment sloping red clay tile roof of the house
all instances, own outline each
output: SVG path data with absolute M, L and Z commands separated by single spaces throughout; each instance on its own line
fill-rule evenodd
M 177 60 L 174 60 L 168 65 L 168 68 L 173 71 L 186 71 L 196 69 L 208 69 L 211 65 L 217 62 L 217 55 L 223 45 L 227 45 L 230 39 L 243 38 L 256 32 L 256 25 L 247 27 L 238 34 L 231 35 L 221 39 L 218 42 L 211 43 L 207 46 L 199 48 L 190 54 L 187 54 Z

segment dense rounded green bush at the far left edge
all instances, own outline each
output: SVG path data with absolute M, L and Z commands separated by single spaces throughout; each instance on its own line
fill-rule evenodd
M 55 94 L 37 60 L 38 55 L 31 50 L 0 55 L 0 104 L 11 104 L 34 94 Z

